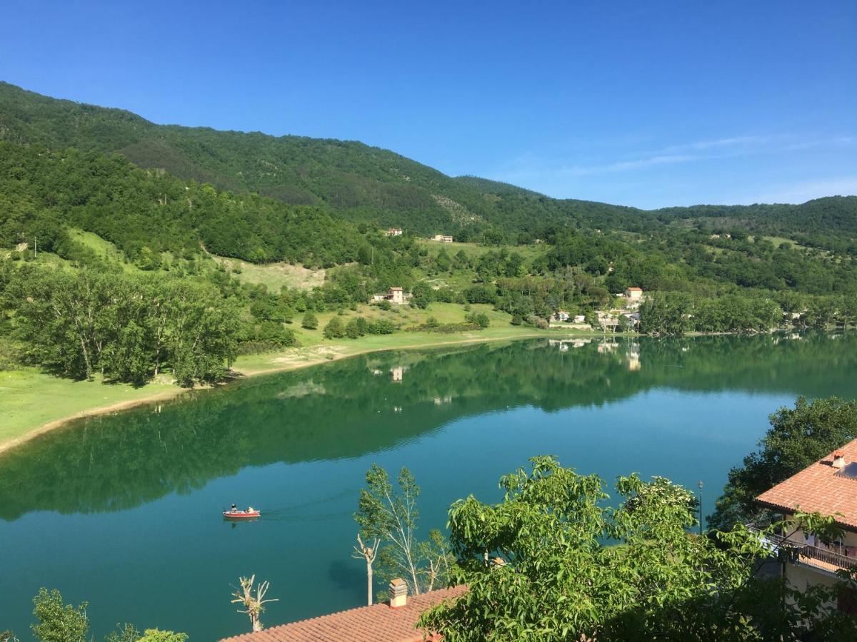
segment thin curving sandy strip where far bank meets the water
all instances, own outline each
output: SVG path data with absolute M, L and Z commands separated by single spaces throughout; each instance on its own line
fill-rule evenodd
M 310 357 L 308 360 L 301 360 L 299 362 L 289 361 L 289 356 L 287 354 L 279 354 L 272 353 L 267 356 L 270 356 L 272 359 L 282 359 L 284 363 L 282 366 L 273 366 L 270 368 L 245 368 L 243 370 L 233 370 L 235 373 L 235 377 L 231 379 L 231 381 L 227 381 L 226 383 L 221 383 L 218 385 L 207 385 L 207 386 L 197 386 L 195 388 L 179 388 L 178 386 L 175 389 L 169 390 L 161 390 L 160 392 L 153 393 L 152 395 L 147 395 L 144 397 L 140 397 L 138 399 L 128 399 L 124 401 L 117 401 L 115 403 L 111 403 L 106 406 L 101 407 L 92 407 L 86 408 L 76 413 L 71 413 L 60 417 L 58 419 L 51 419 L 51 421 L 46 422 L 45 424 L 39 425 L 32 430 L 29 430 L 18 437 L 12 437 L 6 441 L 0 442 L 0 456 L 5 455 L 10 450 L 18 448 L 19 446 L 32 441 L 37 437 L 41 437 L 42 435 L 47 434 L 48 432 L 55 431 L 63 426 L 69 424 L 76 419 L 87 419 L 88 417 L 98 417 L 99 415 L 110 414 L 110 413 L 118 413 L 123 410 L 129 410 L 133 407 L 144 406 L 149 403 L 153 403 L 155 401 L 169 401 L 172 399 L 176 399 L 179 396 L 186 395 L 199 390 L 210 390 L 215 388 L 221 388 L 225 386 L 229 386 L 231 383 L 236 381 L 242 381 L 243 379 L 247 379 L 249 377 L 260 377 L 267 374 L 276 374 L 278 372 L 291 372 L 294 370 L 301 370 L 303 368 L 308 368 L 311 366 L 321 366 L 325 363 L 331 363 L 333 361 L 339 361 L 343 359 L 348 359 L 350 357 L 357 357 L 362 354 L 371 354 L 376 352 L 387 352 L 390 350 L 416 350 L 421 348 L 440 348 L 443 346 L 452 346 L 452 345 L 464 345 L 468 343 L 488 343 L 488 342 L 498 342 L 498 341 L 518 341 L 520 339 L 537 339 L 540 337 L 548 337 L 552 334 L 561 334 L 563 336 L 602 336 L 602 333 L 599 332 L 583 332 L 583 331 L 575 331 L 573 333 L 568 331 L 559 332 L 557 330 L 539 330 L 537 332 L 516 332 L 509 336 L 472 336 L 459 338 L 454 340 L 444 340 L 438 342 L 427 342 L 427 343 L 406 343 L 402 345 L 392 345 L 392 346 L 381 346 L 375 348 L 363 348 L 357 349 L 355 351 L 348 351 L 347 348 L 350 348 L 347 343 L 335 343 L 332 345 L 319 345 L 319 346 L 311 346 L 309 350 L 315 350 L 316 355 Z M 625 336 L 636 336 L 631 333 L 627 333 Z M 337 352 L 337 348 L 346 348 L 344 352 Z M 300 350 L 302 348 L 297 348 Z M 291 355 L 291 358 L 294 359 L 298 355 Z M 101 384 L 103 385 L 103 384 Z

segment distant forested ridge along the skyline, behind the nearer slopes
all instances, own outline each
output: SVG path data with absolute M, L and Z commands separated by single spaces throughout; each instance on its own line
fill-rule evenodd
M 142 168 L 292 205 L 317 205 L 357 222 L 418 235 L 527 242 L 565 226 L 653 232 L 692 222 L 821 247 L 857 236 L 857 197 L 803 205 L 699 205 L 643 211 L 543 194 L 476 177 L 452 178 L 356 141 L 274 137 L 156 125 L 125 110 L 48 98 L 0 82 L 0 140 L 51 149 L 119 152 Z

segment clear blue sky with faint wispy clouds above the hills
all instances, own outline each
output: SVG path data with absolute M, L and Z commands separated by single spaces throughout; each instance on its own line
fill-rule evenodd
M 857 2 L 4 0 L 0 79 L 657 207 L 857 193 Z

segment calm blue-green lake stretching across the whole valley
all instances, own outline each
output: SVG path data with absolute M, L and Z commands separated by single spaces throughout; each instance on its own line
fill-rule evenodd
M 373 462 L 423 487 L 421 524 L 557 455 L 608 483 L 662 475 L 704 510 L 767 417 L 797 395 L 857 397 L 857 335 L 534 340 L 369 354 L 82 420 L 0 457 L 0 630 L 32 597 L 218 639 L 248 630 L 240 575 L 270 580 L 268 626 L 365 600 L 352 514 Z M 261 508 L 230 524 L 231 502 Z

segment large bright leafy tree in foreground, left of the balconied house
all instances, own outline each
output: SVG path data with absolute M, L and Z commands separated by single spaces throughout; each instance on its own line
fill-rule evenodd
M 767 550 L 744 526 L 694 536 L 691 491 L 636 475 L 616 482 L 620 503 L 596 475 L 535 457 L 532 470 L 500 479 L 502 502 L 452 504 L 449 529 L 465 597 L 423 614 L 420 626 L 452 640 L 854 639 L 857 625 L 825 604 L 857 586 L 801 592 L 755 576 Z M 798 514 L 798 529 L 836 536 L 832 518 Z M 784 525 L 777 525 L 784 526 Z

